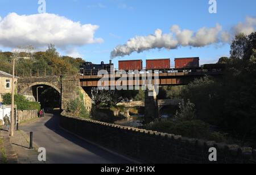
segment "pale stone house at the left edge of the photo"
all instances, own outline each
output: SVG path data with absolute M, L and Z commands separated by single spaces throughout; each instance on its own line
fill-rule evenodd
M 18 77 L 15 77 L 14 83 L 17 84 Z M 11 86 L 13 84 L 13 75 L 0 70 L 0 102 L 2 96 L 6 93 L 11 93 Z

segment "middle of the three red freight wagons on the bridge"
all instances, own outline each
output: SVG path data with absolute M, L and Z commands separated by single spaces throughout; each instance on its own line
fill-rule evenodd
M 147 70 L 164 70 L 171 68 L 170 59 L 146 60 Z

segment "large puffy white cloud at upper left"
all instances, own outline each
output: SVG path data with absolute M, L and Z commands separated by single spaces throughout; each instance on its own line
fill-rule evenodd
M 15 48 L 19 45 L 45 47 L 52 43 L 56 47 L 80 46 L 102 43 L 94 38 L 99 26 L 73 22 L 55 14 L 18 15 L 11 13 L 0 20 L 0 45 Z

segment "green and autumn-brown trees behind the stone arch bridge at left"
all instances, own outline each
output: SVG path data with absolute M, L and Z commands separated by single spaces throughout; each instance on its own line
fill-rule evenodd
M 73 58 L 69 56 L 60 56 L 56 51 L 54 45 L 48 45 L 46 52 L 34 52 L 34 48 L 30 47 L 30 53 L 20 52 L 18 56 L 20 57 L 31 57 L 30 60 L 19 59 L 16 62 L 15 72 L 30 74 L 30 70 L 46 70 L 47 72 L 52 72 L 52 69 L 56 70 L 68 70 L 70 73 L 77 73 L 79 71 L 79 66 L 84 60 L 81 58 Z M 12 73 L 13 71 L 13 56 L 14 52 L 0 52 L 0 70 Z M 16 55 L 15 55 L 16 56 Z

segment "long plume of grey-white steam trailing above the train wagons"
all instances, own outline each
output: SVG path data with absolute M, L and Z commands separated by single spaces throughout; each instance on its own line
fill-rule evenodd
M 222 31 L 222 26 L 216 24 L 215 27 L 200 28 L 194 32 L 191 30 L 181 30 L 174 25 L 168 34 L 163 34 L 162 30 L 157 29 L 155 34 L 148 36 L 135 36 L 127 41 L 126 44 L 118 45 L 111 52 L 110 57 L 114 59 L 118 56 L 131 55 L 133 52 L 141 53 L 150 49 L 176 49 L 177 47 L 204 47 L 211 44 L 229 43 L 234 35 L 243 32 L 246 35 L 256 31 L 256 18 L 247 17 L 245 22 L 238 23 L 229 31 Z

